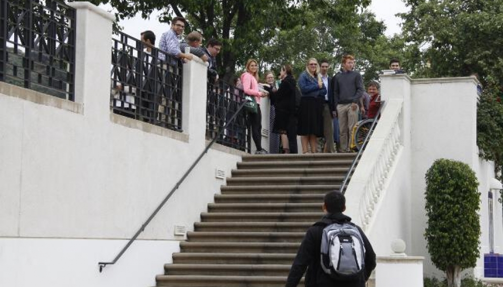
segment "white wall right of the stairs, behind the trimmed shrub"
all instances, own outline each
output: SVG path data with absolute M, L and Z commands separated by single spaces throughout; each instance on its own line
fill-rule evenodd
M 474 78 L 411 80 L 407 75 L 384 75 L 381 80 L 384 100 L 392 102 L 403 99 L 399 121 L 403 149 L 392 162 L 390 175 L 383 181 L 385 196 L 376 203 L 376 211 L 369 225 L 368 233 L 377 254 L 389 254 L 389 242 L 398 237 L 406 241 L 408 254 L 425 256 L 424 272 L 427 276 L 443 275 L 443 272 L 431 263 L 424 239 L 427 222 L 424 209 L 424 176 L 433 161 L 438 158 L 460 160 L 476 172 L 480 183 L 479 191 L 482 194 L 481 257 L 475 272 L 471 272 L 481 276 L 483 253 L 489 248 L 487 192 L 494 171 L 492 163 L 483 161 L 478 156 L 477 91 Z M 386 109 L 383 112 L 385 118 Z M 377 129 L 390 128 L 383 125 L 389 123 L 380 121 Z M 372 148 L 371 140 L 367 150 Z M 355 175 L 359 168 L 366 167 L 359 166 Z M 351 184 L 348 189 L 350 187 Z M 349 198 L 348 201 L 356 199 Z M 500 222 L 502 215 L 499 203 L 495 204 L 494 218 L 495 247 L 501 252 L 503 223 Z

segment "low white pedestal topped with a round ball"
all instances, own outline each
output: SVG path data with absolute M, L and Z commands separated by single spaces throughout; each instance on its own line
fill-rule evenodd
M 376 287 L 423 287 L 424 257 L 407 256 L 405 247 L 403 240 L 395 240 L 391 244 L 394 254 L 377 257 Z

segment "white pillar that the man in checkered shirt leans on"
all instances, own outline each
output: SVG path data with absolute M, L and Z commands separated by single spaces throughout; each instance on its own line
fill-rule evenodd
M 207 73 L 208 67 L 196 56 L 183 64 L 182 130 L 197 152 L 206 145 Z

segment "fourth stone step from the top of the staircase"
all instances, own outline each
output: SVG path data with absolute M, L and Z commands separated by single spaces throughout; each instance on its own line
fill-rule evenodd
M 254 186 L 254 185 L 340 185 L 343 176 L 332 177 L 280 177 L 280 178 L 227 178 L 227 186 Z

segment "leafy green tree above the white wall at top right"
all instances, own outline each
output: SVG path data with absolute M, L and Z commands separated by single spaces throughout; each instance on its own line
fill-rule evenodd
M 417 77 L 480 75 L 503 84 L 503 0 L 406 0 L 403 34 Z

